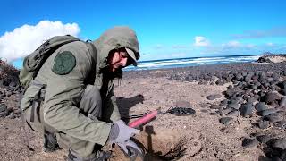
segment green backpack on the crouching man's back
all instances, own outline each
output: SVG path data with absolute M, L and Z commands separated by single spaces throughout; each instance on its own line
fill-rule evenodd
M 56 49 L 73 41 L 80 41 L 80 39 L 72 37 L 71 35 L 55 36 L 46 40 L 46 42 L 34 52 L 27 55 L 24 58 L 23 67 L 21 68 L 19 75 L 21 86 L 24 87 L 24 89 L 27 89 L 29 87 L 29 82 L 37 76 L 39 69 L 46 62 L 46 59 L 52 55 Z

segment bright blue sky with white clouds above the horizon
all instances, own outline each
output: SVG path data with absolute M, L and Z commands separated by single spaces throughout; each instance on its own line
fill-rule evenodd
M 46 39 L 97 39 L 127 25 L 139 61 L 286 53 L 284 0 L 2 0 L 0 58 L 20 67 Z

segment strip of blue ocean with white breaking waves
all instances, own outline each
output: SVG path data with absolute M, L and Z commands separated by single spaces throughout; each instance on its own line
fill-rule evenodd
M 187 57 L 177 59 L 164 59 L 152 61 L 139 61 L 137 67 L 132 65 L 124 68 L 124 71 L 140 71 L 152 69 L 178 68 L 199 66 L 206 64 L 234 64 L 255 62 L 262 55 L 226 55 L 212 57 Z

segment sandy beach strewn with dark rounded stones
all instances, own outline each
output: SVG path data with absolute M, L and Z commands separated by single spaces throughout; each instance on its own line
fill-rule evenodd
M 285 159 L 285 65 L 227 64 L 124 72 L 122 80 L 114 80 L 114 94 L 122 117 L 159 108 L 163 112 L 172 107 L 196 111 L 186 116 L 160 114 L 141 127 L 135 140 L 145 149 L 145 160 Z M 18 100 L 19 93 L 14 92 L 3 102 L 13 113 Z M 260 102 L 274 112 L 265 114 L 257 105 Z M 261 123 L 267 124 L 262 127 Z M 19 117 L 0 118 L 0 127 L 2 160 L 66 159 L 64 149 L 42 152 L 41 136 L 29 128 L 27 137 L 34 151 L 26 148 Z M 129 159 L 115 148 L 111 160 Z

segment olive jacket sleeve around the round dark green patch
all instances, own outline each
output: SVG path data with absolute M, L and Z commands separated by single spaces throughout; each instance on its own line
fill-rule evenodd
M 51 61 L 51 78 L 46 84 L 44 120 L 56 130 L 72 137 L 104 145 L 111 124 L 89 119 L 80 113 L 78 107 L 85 87 L 84 79 L 91 69 L 90 59 L 87 54 L 76 49 L 63 48 L 63 51 L 74 55 L 76 65 L 71 72 L 59 75 L 52 72 L 55 61 Z M 58 53 L 61 53 L 61 50 Z

